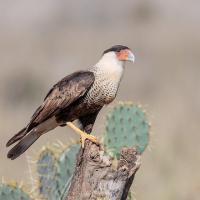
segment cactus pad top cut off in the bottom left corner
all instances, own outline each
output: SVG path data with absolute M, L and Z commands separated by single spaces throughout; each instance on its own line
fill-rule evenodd
M 1 200 L 31 200 L 28 193 L 21 188 L 9 184 L 0 184 Z

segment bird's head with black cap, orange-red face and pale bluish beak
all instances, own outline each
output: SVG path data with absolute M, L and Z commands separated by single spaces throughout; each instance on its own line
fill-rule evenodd
M 130 61 L 134 62 L 135 61 L 135 56 L 131 52 L 131 50 L 123 45 L 115 45 L 112 46 L 111 48 L 105 50 L 103 52 L 103 57 L 110 57 L 111 59 L 117 59 L 118 61 L 125 62 L 125 61 Z

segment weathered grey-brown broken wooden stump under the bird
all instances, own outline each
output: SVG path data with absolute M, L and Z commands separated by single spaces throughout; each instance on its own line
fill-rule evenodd
M 116 164 L 102 147 L 86 141 L 65 200 L 125 200 L 139 167 L 135 149 L 123 148 Z

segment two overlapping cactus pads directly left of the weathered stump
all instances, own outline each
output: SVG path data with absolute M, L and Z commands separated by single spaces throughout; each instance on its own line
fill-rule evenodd
M 61 153 L 49 148 L 43 150 L 37 162 L 39 193 L 48 200 L 62 199 L 75 169 L 80 145 L 73 144 Z

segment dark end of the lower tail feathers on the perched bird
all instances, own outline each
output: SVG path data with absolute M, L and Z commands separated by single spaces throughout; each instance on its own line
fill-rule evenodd
M 32 130 L 28 135 L 22 138 L 22 140 L 8 152 L 7 157 L 10 158 L 11 160 L 16 159 L 21 154 L 23 154 L 39 137 L 40 134 Z

